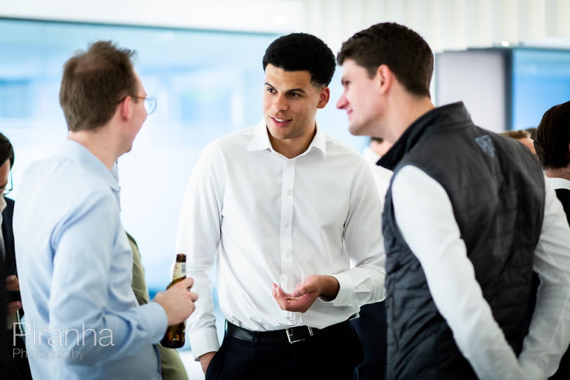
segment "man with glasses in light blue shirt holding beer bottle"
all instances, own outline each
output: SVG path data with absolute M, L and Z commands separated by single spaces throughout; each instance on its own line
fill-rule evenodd
M 13 355 L 27 355 L 35 379 L 160 379 L 154 345 L 195 307 L 190 278 L 143 306 L 131 289 L 115 162 L 155 107 L 133 53 L 99 41 L 67 61 L 67 140 L 21 183 L 14 235 L 27 352 Z

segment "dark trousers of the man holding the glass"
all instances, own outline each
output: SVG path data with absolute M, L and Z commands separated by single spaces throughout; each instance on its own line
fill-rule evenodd
M 206 380 L 351 380 L 362 359 L 361 343 L 349 322 L 293 344 L 246 341 L 226 332 Z

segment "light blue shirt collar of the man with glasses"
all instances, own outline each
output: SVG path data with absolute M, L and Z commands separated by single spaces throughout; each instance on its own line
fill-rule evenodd
M 116 173 L 113 173 L 113 170 L 107 169 L 107 166 L 105 166 L 100 159 L 95 157 L 95 155 L 83 145 L 77 143 L 77 141 L 70 139 L 65 140 L 59 153 L 63 157 L 70 159 L 70 161 L 77 162 L 84 166 L 94 176 L 97 176 L 106 185 L 109 185 L 113 191 L 118 192 L 120 190 L 119 178 L 115 175 Z

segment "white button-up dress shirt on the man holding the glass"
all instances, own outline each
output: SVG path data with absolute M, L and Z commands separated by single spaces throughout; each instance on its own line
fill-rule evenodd
M 320 129 L 292 159 L 271 148 L 264 122 L 207 145 L 188 181 L 177 237 L 200 296 L 188 320 L 195 357 L 219 348 L 208 275 L 216 254 L 221 310 L 253 331 L 284 328 L 271 284 L 293 268 L 333 275 L 340 285 L 333 301 L 317 299 L 302 314 L 303 325 L 334 325 L 382 299 L 381 210 L 370 169 Z

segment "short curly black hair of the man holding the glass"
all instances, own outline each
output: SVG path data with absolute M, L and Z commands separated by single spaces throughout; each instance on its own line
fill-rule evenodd
M 335 54 L 318 37 L 307 33 L 292 33 L 271 42 L 263 59 L 267 65 L 285 71 L 308 71 L 311 82 L 328 86 L 335 74 Z

